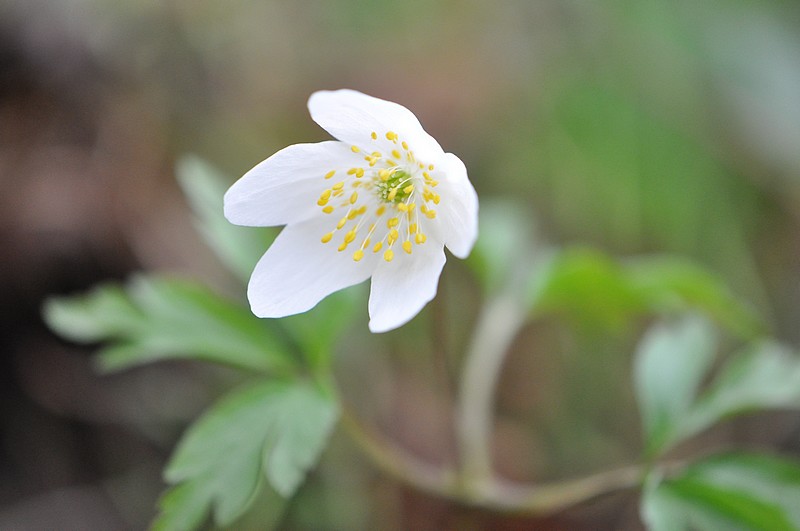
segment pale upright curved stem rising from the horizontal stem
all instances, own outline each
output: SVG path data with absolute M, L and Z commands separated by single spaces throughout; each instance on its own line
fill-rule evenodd
M 511 294 L 492 299 L 482 310 L 466 354 L 456 410 L 462 481 L 480 496 L 492 478 L 494 396 L 506 353 L 525 322 L 525 310 Z

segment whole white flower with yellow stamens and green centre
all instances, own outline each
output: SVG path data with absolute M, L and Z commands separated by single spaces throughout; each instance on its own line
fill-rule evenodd
M 305 312 L 372 277 L 370 330 L 397 328 L 436 295 L 443 247 L 469 254 L 478 197 L 405 107 L 337 90 L 315 92 L 308 109 L 338 141 L 282 149 L 225 194 L 232 223 L 286 225 L 250 278 L 253 313 Z

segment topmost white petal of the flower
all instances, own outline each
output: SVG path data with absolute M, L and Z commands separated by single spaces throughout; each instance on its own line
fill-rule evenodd
M 368 149 L 372 132 L 385 142 L 386 133 L 392 131 L 408 142 L 420 160 L 442 155 L 441 146 L 425 132 L 414 113 L 397 103 L 355 90 L 321 90 L 308 99 L 308 110 L 323 129 L 348 144 Z

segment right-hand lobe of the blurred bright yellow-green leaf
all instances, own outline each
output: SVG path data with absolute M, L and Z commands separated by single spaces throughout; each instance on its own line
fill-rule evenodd
M 660 312 L 702 310 L 728 330 L 746 338 L 764 325 L 722 280 L 685 259 L 648 257 L 627 261 L 625 270 L 647 305 Z

